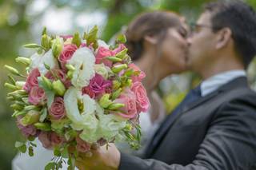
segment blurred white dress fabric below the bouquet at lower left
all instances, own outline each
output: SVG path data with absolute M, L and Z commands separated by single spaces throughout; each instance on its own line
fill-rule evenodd
M 46 164 L 54 157 L 53 151 L 42 147 L 41 142 L 36 139 L 34 143 L 34 156 L 30 157 L 28 153 L 18 153 L 12 161 L 12 170 L 44 170 Z M 62 170 L 67 169 L 67 164 L 62 164 Z

